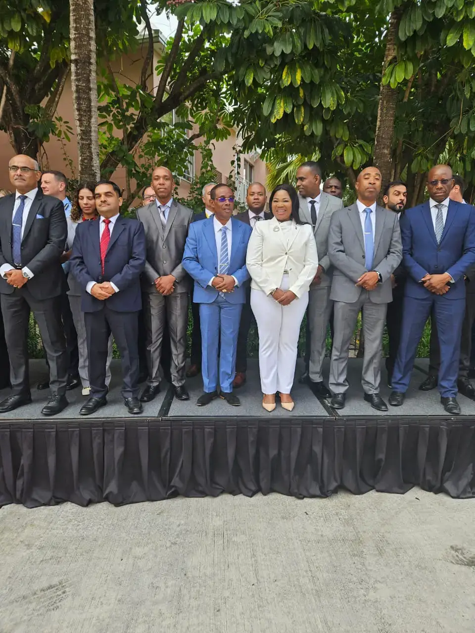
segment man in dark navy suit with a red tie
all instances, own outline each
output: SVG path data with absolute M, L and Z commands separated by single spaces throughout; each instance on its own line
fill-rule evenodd
M 71 272 L 82 285 L 89 354 L 91 397 L 80 415 L 105 406 L 106 361 L 112 332 L 122 359 L 125 406 L 141 413 L 139 395 L 138 320 L 142 308 L 140 275 L 145 267 L 144 227 L 138 220 L 122 218 L 121 192 L 115 182 L 96 185 L 99 222 L 82 222 L 76 229 Z

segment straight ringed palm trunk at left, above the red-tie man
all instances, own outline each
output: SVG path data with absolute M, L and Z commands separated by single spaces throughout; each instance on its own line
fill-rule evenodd
M 94 0 L 70 0 L 71 82 L 79 180 L 99 180 Z

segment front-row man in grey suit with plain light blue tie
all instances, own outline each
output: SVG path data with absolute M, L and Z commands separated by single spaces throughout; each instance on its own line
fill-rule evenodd
M 330 294 L 334 301 L 331 406 L 345 406 L 348 349 L 358 312 L 363 309 L 364 399 L 372 408 L 387 411 L 379 396 L 381 353 L 386 308 L 393 300 L 391 275 L 402 260 L 401 231 L 397 214 L 376 204 L 381 191 L 377 167 L 362 170 L 355 186 L 356 203 L 333 214 L 328 234 L 328 255 L 334 266 Z

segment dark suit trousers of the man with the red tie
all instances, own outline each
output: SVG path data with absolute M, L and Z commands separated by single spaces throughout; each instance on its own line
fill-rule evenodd
M 139 395 L 139 313 L 117 312 L 107 304 L 97 312 L 84 313 L 89 356 L 89 383 L 91 398 L 104 398 L 106 387 L 106 361 L 110 334 L 117 344 L 122 361 L 122 396 Z

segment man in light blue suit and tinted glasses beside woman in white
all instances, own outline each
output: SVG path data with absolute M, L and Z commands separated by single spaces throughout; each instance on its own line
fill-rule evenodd
M 232 381 L 249 279 L 246 252 L 252 230 L 232 217 L 234 194 L 230 187 L 216 185 L 210 195 L 214 215 L 189 226 L 182 262 L 194 279 L 193 301 L 200 304 L 204 392 L 196 404 L 205 406 L 220 395 L 239 406 Z

